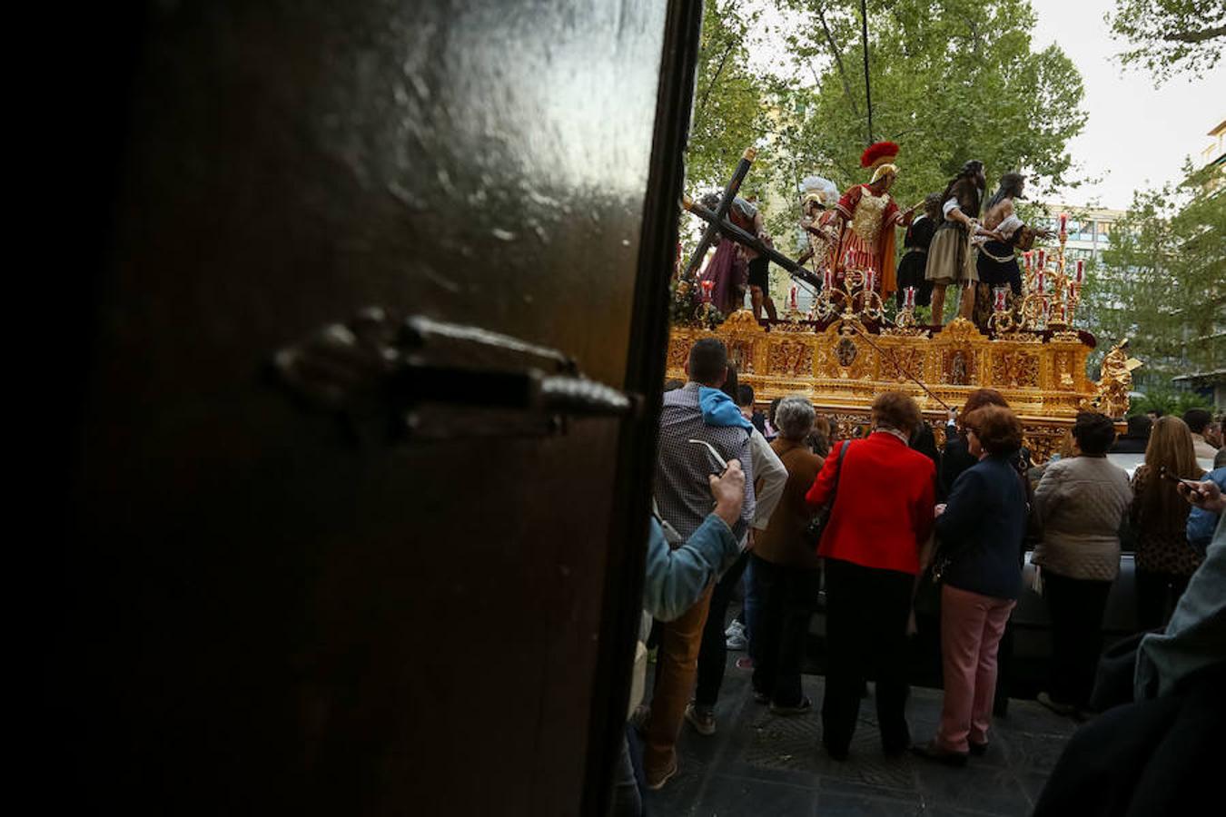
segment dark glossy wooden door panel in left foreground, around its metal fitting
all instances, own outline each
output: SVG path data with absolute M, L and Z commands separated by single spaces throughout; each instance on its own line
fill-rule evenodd
M 666 11 L 150 4 L 71 470 L 82 794 L 579 811 L 593 707 L 624 695 L 597 668 L 607 568 L 644 513 L 617 476 L 646 473 L 650 413 L 356 441 L 266 367 L 379 305 L 638 382 Z M 669 217 L 649 218 L 662 246 Z

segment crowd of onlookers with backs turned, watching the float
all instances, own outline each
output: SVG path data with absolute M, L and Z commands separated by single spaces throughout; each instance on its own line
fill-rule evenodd
M 832 439 L 804 397 L 758 412 L 718 339 L 695 342 L 685 371 L 687 382 L 666 385 L 661 413 L 644 599 L 655 623 L 639 649 L 639 669 L 649 642 L 656 666 L 650 695 L 641 682 L 633 693 L 630 728 L 644 748 L 636 758 L 628 742 L 617 813 L 641 813 L 642 789 L 677 774 L 687 723 L 716 732 L 729 644 L 748 648 L 754 699 L 772 715 L 814 708 L 802 668 L 823 589 L 821 751 L 836 761 L 850 758 L 869 681 L 886 755 L 910 750 L 960 767 L 987 751 L 1027 549 L 1052 619 L 1051 679 L 1038 699 L 1053 712 L 1094 715 L 1103 611 L 1128 528 L 1139 630 L 1151 632 L 1137 646 L 1137 665 L 1149 668 L 1138 701 L 1187 695 L 1220 675 L 1226 452 L 1213 450 L 1209 474 L 1198 464 L 1198 446 L 1220 434 L 1208 413 L 1130 424 L 1118 443 L 1111 419 L 1080 414 L 1064 456 L 1036 473 L 1019 418 L 993 390 L 950 412 L 938 447 L 902 392 L 877 397 L 867 434 Z M 1129 478 L 1107 453 L 1139 437 L 1145 464 Z M 726 630 L 741 588 L 742 615 Z M 935 734 L 913 740 L 907 655 L 920 609 L 939 621 L 944 698 Z M 1060 791 L 1075 793 L 1079 761 L 1065 761 Z M 1070 801 L 1060 791 L 1047 797 L 1053 807 Z

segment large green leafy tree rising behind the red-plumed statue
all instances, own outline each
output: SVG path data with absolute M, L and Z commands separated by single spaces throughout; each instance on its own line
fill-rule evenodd
M 859 2 L 788 2 L 808 22 L 791 38 L 797 60 L 829 60 L 799 124 L 802 165 L 841 186 L 867 180 Z M 1025 0 L 874 0 L 868 16 L 872 136 L 902 147 L 904 206 L 943 190 L 967 159 L 989 180 L 1027 173 L 1032 194 L 1080 183 L 1064 147 L 1086 120 L 1081 77 L 1058 47 L 1031 50 Z

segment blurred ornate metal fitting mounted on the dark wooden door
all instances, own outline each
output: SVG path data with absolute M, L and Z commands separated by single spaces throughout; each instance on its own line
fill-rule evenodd
M 272 371 L 302 403 L 354 426 L 386 423 L 392 437 L 560 434 L 570 418 L 631 416 L 641 407 L 557 349 L 419 315 L 400 321 L 379 307 L 278 350 Z

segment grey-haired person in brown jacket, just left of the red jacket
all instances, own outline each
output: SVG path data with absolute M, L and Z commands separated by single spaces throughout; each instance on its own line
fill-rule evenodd
M 779 436 L 771 448 L 787 469 L 787 483 L 750 555 L 760 606 L 753 620 L 754 697 L 780 715 L 812 707 L 801 690 L 801 668 L 820 585 L 817 554 L 803 535 L 812 516 L 804 494 L 823 462 L 807 445 L 814 416 L 803 397 L 786 397 L 775 410 Z

